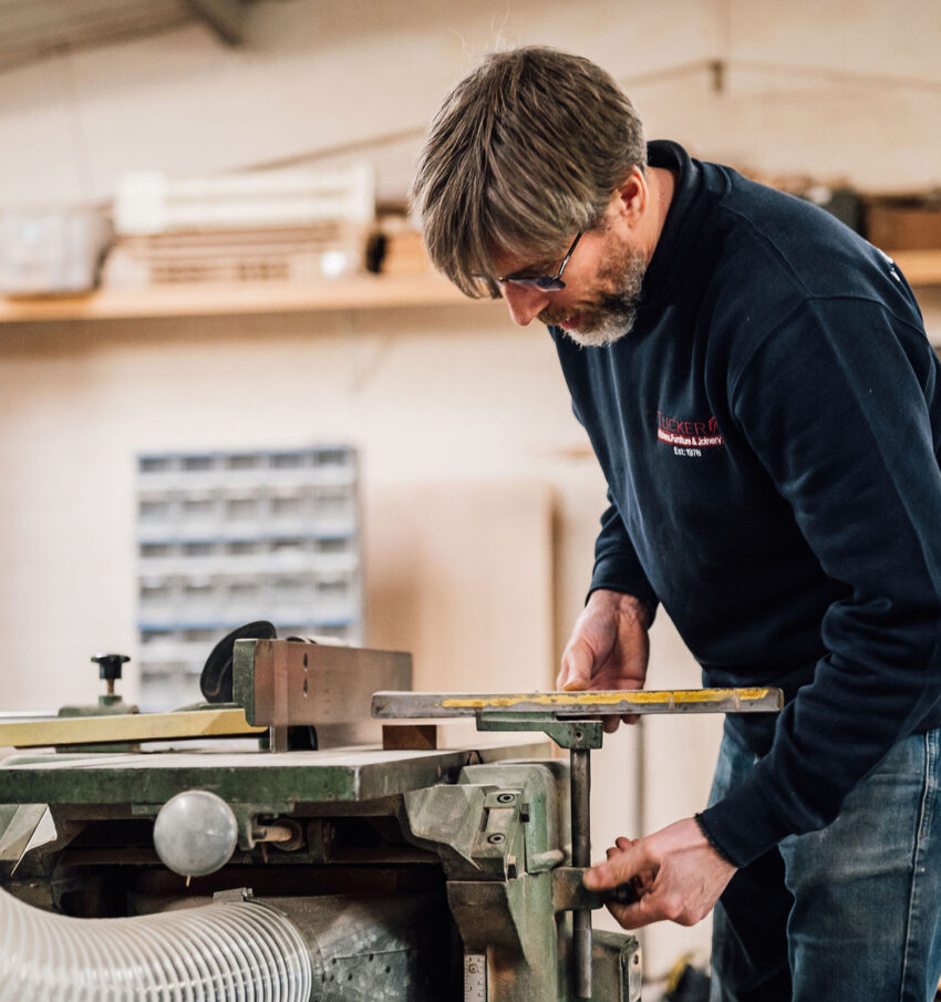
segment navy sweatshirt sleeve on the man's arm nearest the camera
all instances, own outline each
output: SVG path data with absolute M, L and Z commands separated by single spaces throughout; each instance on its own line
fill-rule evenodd
M 815 830 L 941 699 L 941 474 L 923 331 L 866 300 L 814 300 L 731 390 L 733 415 L 824 572 L 845 586 L 826 653 L 748 781 L 700 815 L 743 866 Z M 768 568 L 774 574 L 774 568 Z

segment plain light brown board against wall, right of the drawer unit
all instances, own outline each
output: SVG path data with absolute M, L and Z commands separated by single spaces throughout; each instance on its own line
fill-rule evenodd
M 546 485 L 374 484 L 365 507 L 368 640 L 412 652 L 415 689 L 552 684 Z

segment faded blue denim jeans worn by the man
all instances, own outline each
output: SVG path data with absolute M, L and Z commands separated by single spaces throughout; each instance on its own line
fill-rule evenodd
M 941 729 L 898 744 L 819 831 L 715 907 L 711 1002 L 929 1002 L 941 974 Z M 726 730 L 710 803 L 757 757 Z

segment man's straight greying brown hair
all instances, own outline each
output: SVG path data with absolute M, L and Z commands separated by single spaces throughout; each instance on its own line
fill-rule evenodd
M 487 55 L 447 95 L 410 196 L 435 267 L 465 295 L 496 298 L 496 257 L 561 257 L 645 166 L 643 126 L 614 80 L 530 47 Z

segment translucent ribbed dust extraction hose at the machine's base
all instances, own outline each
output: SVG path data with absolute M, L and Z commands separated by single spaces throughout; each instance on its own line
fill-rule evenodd
M 0 891 L 0 1002 L 308 1002 L 310 991 L 304 941 L 265 905 L 76 919 Z

